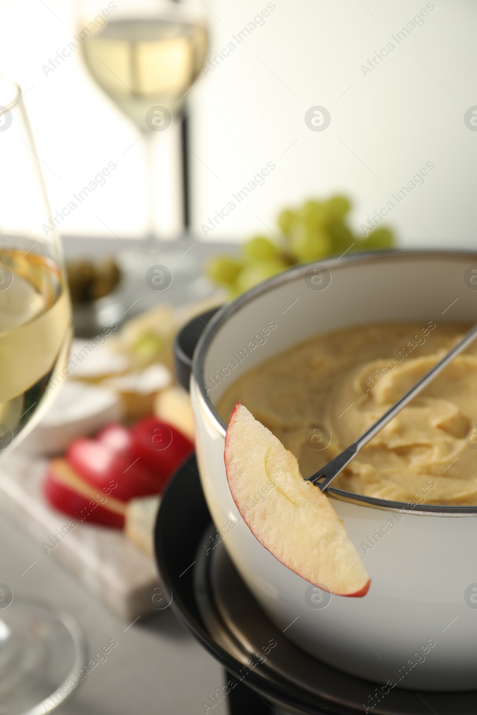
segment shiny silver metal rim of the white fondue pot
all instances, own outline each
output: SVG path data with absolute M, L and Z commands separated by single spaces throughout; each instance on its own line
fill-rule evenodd
M 352 255 L 344 257 L 333 257 L 324 259 L 323 261 L 314 261 L 311 263 L 304 263 L 297 265 L 295 267 L 286 270 L 283 273 L 270 278 L 269 280 L 260 283 L 259 285 L 247 290 L 247 292 L 242 293 L 233 302 L 226 303 L 217 313 L 212 317 L 212 319 L 207 323 L 207 327 L 203 330 L 200 336 L 199 342 L 197 342 L 197 347 L 195 348 L 194 358 L 192 361 L 192 378 L 194 378 L 195 385 L 197 387 L 197 395 L 202 405 L 203 410 L 207 413 L 212 424 L 215 426 L 217 431 L 225 438 L 225 433 L 227 432 L 227 425 L 218 415 L 215 410 L 214 405 L 210 401 L 207 390 L 204 384 L 204 363 L 205 356 L 207 355 L 207 350 L 210 347 L 210 342 L 212 338 L 216 335 L 215 330 L 221 327 L 232 315 L 235 315 L 244 305 L 255 300 L 256 297 L 269 292 L 273 288 L 285 285 L 286 283 L 297 280 L 300 277 L 304 277 L 306 272 L 311 266 L 324 266 L 328 270 L 334 270 L 338 267 L 343 267 L 350 264 L 355 265 L 365 265 L 367 263 L 376 262 L 388 262 L 392 260 L 393 257 L 403 257 L 408 260 L 422 260 L 425 257 L 432 256 L 433 258 L 438 258 L 442 260 L 448 260 L 449 252 L 452 253 L 456 258 L 471 259 L 477 262 L 477 251 L 458 251 L 454 253 L 451 250 L 426 250 L 426 249 L 393 249 L 393 250 L 382 250 L 382 251 L 366 251 L 366 252 L 356 252 Z M 338 263 L 339 261 L 339 263 Z M 421 516 L 477 516 L 477 505 L 475 506 L 444 506 L 440 504 L 417 504 L 413 502 L 403 502 L 403 501 L 390 501 L 388 499 L 379 499 L 376 497 L 369 497 L 362 494 L 355 494 L 352 492 L 343 491 L 341 489 L 330 488 L 327 490 L 326 494 L 339 501 L 346 501 L 348 503 L 355 504 L 356 506 L 363 506 L 368 508 L 380 509 L 381 511 L 393 511 L 393 512 L 405 512 L 419 514 Z M 417 507 L 417 508 L 416 508 Z

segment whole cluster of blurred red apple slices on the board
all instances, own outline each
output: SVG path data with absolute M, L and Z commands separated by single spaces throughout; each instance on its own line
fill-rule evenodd
M 127 428 L 109 423 L 93 438 L 72 440 L 44 478 L 51 506 L 87 524 L 124 528 L 131 499 L 162 493 L 192 442 L 172 425 L 143 418 Z

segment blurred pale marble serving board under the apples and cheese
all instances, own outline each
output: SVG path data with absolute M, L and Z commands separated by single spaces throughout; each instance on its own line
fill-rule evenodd
M 0 459 L 0 509 L 22 531 L 39 542 L 40 558 L 67 568 L 94 596 L 124 621 L 154 613 L 159 586 L 154 559 L 117 529 L 79 523 L 67 536 L 71 518 L 52 509 L 43 496 L 47 460 L 19 448 Z M 79 521 L 79 520 L 76 520 Z M 41 563 L 39 564 L 41 566 Z

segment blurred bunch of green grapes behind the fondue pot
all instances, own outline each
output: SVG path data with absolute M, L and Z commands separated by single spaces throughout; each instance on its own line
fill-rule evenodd
M 389 248 L 393 235 L 376 228 L 367 237 L 353 235 L 347 225 L 350 202 L 342 196 L 328 201 L 308 201 L 300 209 L 285 209 L 278 225 L 284 236 L 277 245 L 264 236 L 247 241 L 238 258 L 217 256 L 208 275 L 227 288 L 230 298 L 286 270 L 294 263 L 308 263 L 345 251 Z

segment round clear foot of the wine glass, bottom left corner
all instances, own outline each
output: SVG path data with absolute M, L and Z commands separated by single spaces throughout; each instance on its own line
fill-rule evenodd
M 44 715 L 82 680 L 86 649 L 67 613 L 34 603 L 0 610 L 0 715 Z

